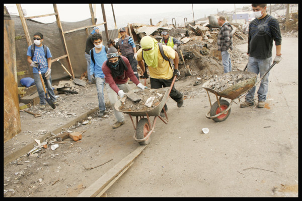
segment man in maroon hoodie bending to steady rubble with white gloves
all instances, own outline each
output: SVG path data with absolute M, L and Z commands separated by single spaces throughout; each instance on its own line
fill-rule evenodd
M 113 124 L 113 128 L 118 128 L 123 125 L 125 121 L 123 113 L 117 111 L 114 108 L 114 104 L 118 100 L 117 95 L 119 95 L 120 98 L 123 98 L 125 93 L 131 90 L 128 84 L 128 78 L 130 78 L 140 89 L 144 90 L 146 87 L 143 86 L 134 75 L 129 60 L 125 56 L 119 55 L 118 51 L 114 47 L 111 47 L 108 50 L 107 61 L 104 62 L 102 70 L 105 74 L 108 99 L 117 120 Z

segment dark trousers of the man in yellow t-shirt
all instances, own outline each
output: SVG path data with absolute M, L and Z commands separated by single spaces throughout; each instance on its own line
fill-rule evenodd
M 150 78 L 151 88 L 152 89 L 159 89 L 159 88 L 162 88 L 162 87 L 170 87 L 171 84 L 172 84 L 173 78 L 174 77 L 172 77 L 170 80 Z M 182 99 L 183 95 L 178 90 L 176 90 L 174 85 L 173 85 L 172 89 L 171 89 L 171 92 L 170 92 L 170 97 L 174 101 L 179 102 Z M 165 107 L 165 110 L 167 111 L 168 107 L 167 107 L 166 104 L 165 104 L 164 107 Z M 164 110 L 162 110 L 162 112 L 164 112 Z

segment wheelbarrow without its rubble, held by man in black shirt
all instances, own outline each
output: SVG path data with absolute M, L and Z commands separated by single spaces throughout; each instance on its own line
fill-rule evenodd
M 207 92 L 209 102 L 210 102 L 210 111 L 205 115 L 206 118 L 212 119 L 216 122 L 221 122 L 224 121 L 226 118 L 229 117 L 231 113 L 231 105 L 234 102 L 235 99 L 238 98 L 240 99 L 247 94 L 253 87 L 259 84 L 261 80 L 266 76 L 266 74 L 273 68 L 273 66 L 276 64 L 274 61 L 273 64 L 270 66 L 268 71 L 262 75 L 260 80 L 256 83 L 257 80 L 257 74 L 252 73 L 252 72 L 246 72 L 246 71 L 232 71 L 229 73 L 226 73 L 225 75 L 237 75 L 241 74 L 242 79 L 244 81 L 239 82 L 237 84 L 234 84 L 230 86 L 229 88 L 226 88 L 222 91 L 216 91 L 213 89 L 208 88 L 209 82 L 211 82 L 212 79 L 206 81 L 203 83 L 202 88 L 204 88 Z M 210 95 L 208 92 L 211 92 L 215 94 L 216 96 L 216 102 L 212 105 Z M 218 98 L 219 96 L 219 98 Z M 229 103 L 228 101 L 221 99 L 221 97 L 231 99 L 231 102 Z

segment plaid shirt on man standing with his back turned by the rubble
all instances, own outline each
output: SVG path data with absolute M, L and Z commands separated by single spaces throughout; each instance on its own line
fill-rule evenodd
M 229 48 L 233 50 L 232 30 L 233 28 L 230 23 L 226 22 L 222 25 L 217 35 L 218 50 L 227 51 Z

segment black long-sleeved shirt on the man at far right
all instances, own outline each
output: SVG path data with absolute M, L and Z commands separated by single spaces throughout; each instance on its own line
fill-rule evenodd
M 255 58 L 272 56 L 273 41 L 281 45 L 279 22 L 266 15 L 263 19 L 253 20 L 249 25 L 248 53 Z

